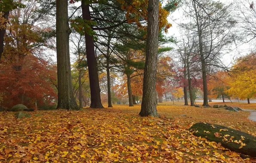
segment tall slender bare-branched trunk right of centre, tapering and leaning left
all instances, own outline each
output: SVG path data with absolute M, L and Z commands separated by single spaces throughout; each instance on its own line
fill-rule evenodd
M 199 38 L 200 59 L 202 64 L 203 91 L 204 91 L 203 106 L 208 106 L 207 76 L 206 76 L 206 66 L 205 66 L 204 53 L 203 53 L 203 43 L 202 43 L 202 33 L 201 33 L 202 31 L 200 29 L 200 23 L 199 23 L 199 18 L 198 18 L 198 13 L 195 7 L 195 3 L 194 3 L 194 9 L 195 9 L 195 18 L 196 18 L 198 38 Z

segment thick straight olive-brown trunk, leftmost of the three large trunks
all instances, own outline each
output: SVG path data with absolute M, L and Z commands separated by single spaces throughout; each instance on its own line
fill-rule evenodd
M 72 89 L 69 54 L 69 35 L 71 30 L 68 24 L 67 6 L 67 0 L 56 0 L 57 109 L 79 110 Z

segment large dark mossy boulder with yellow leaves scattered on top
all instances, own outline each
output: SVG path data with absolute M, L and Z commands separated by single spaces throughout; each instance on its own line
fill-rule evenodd
M 189 130 L 193 131 L 193 135 L 221 143 L 224 148 L 231 151 L 256 157 L 256 137 L 248 133 L 208 123 L 196 123 Z

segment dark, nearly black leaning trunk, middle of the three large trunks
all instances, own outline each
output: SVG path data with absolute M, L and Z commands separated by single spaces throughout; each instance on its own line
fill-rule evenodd
M 82 0 L 82 17 L 86 21 L 91 21 L 89 5 L 85 5 Z M 101 104 L 101 89 L 99 84 L 97 61 L 94 54 L 93 36 L 85 31 L 86 57 L 89 71 L 89 81 L 91 90 L 91 108 L 104 108 Z

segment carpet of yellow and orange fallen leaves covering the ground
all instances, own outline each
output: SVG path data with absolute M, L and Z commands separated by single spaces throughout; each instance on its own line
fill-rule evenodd
M 251 162 L 187 130 L 208 122 L 256 135 L 256 122 L 247 119 L 250 113 L 190 106 L 157 109 L 160 118 L 140 117 L 139 105 L 35 111 L 25 119 L 0 113 L 0 162 Z

